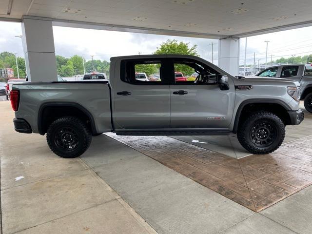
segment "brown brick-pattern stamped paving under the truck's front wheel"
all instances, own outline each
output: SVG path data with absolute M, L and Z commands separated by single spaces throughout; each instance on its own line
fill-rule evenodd
M 106 135 L 255 212 L 312 184 L 312 137 L 237 160 L 171 137 Z

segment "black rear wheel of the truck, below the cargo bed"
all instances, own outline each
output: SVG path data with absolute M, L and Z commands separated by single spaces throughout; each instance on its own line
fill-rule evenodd
M 77 117 L 61 117 L 48 128 L 47 142 L 56 155 L 73 158 L 82 155 L 90 146 L 92 134 Z

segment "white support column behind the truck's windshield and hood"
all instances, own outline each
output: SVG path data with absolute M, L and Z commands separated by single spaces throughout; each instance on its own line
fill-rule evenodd
M 218 66 L 233 76 L 238 76 L 240 39 L 219 39 Z

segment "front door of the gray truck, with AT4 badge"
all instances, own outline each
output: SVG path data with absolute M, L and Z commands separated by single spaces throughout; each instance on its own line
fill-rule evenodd
M 175 59 L 175 72 L 188 76 L 187 81 L 170 85 L 171 128 L 227 129 L 230 126 L 235 101 L 234 82 L 230 89 L 220 90 L 208 65 L 192 59 Z

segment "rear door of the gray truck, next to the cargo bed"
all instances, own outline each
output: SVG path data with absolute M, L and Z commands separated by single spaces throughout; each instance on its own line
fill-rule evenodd
M 161 129 L 170 125 L 170 90 L 166 59 L 124 59 L 114 79 L 114 127 Z M 146 73 L 148 79 L 136 78 Z

